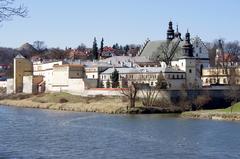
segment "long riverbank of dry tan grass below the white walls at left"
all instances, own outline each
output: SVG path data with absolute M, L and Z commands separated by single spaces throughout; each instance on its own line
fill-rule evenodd
M 121 97 L 81 97 L 68 93 L 51 93 L 40 95 L 19 94 L 7 96 L 0 100 L 0 105 L 107 114 L 153 114 L 182 112 L 181 109 L 177 107 L 142 107 L 140 101 L 136 101 L 135 108 L 127 109 L 128 101 Z

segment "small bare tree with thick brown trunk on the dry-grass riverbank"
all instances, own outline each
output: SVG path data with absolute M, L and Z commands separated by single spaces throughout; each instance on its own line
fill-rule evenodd
M 136 97 L 137 93 L 139 91 L 139 86 L 137 83 L 132 82 L 128 88 L 122 88 L 121 89 L 121 94 L 126 96 L 129 100 L 129 107 L 134 108 L 135 107 L 135 102 L 136 102 Z M 127 107 L 128 108 L 128 107 Z

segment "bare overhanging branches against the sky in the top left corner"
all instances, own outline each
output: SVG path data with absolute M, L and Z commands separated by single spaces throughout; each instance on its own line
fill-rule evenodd
M 28 10 L 24 5 L 14 6 L 15 0 L 0 0 L 0 23 L 14 16 L 26 17 Z

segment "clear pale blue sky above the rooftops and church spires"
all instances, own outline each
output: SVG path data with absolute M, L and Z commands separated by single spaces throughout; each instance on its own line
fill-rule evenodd
M 1 24 L 0 46 L 45 41 L 48 47 L 91 47 L 94 36 L 106 45 L 142 44 L 166 38 L 168 21 L 203 41 L 240 40 L 239 0 L 17 0 L 25 19 Z

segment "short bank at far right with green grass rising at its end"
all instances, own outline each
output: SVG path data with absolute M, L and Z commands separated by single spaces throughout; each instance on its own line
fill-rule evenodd
M 240 103 L 236 103 L 226 109 L 183 112 L 182 117 L 194 119 L 240 121 Z

